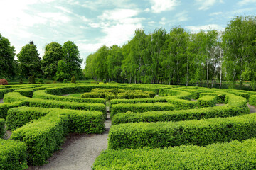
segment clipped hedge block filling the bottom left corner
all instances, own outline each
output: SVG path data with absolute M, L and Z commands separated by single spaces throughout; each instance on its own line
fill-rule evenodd
M 23 142 L 0 139 L 0 169 L 27 169 L 26 149 Z

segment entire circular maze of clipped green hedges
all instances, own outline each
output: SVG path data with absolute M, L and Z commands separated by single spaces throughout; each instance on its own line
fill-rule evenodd
M 62 96 L 82 93 L 80 98 Z M 155 84 L 0 86 L 0 169 L 43 165 L 70 132 L 105 132 L 92 169 L 256 169 L 256 92 Z

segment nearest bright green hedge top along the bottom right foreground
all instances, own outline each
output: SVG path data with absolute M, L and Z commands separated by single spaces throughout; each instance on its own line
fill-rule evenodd
M 104 169 L 256 169 L 256 140 L 225 142 L 206 147 L 107 149 L 93 164 Z

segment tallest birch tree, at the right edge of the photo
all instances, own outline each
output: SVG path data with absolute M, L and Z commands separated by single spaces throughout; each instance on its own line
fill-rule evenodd
M 256 77 L 248 77 L 254 74 L 255 66 L 255 38 L 256 17 L 237 16 L 228 23 L 223 33 L 224 64 L 227 78 L 235 84 L 239 79 L 240 88 L 243 81 L 255 81 Z

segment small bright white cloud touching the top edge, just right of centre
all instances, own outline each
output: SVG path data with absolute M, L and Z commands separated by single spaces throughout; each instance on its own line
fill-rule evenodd
M 171 11 L 175 6 L 178 6 L 179 0 L 150 0 L 153 13 L 161 13 L 163 11 Z

